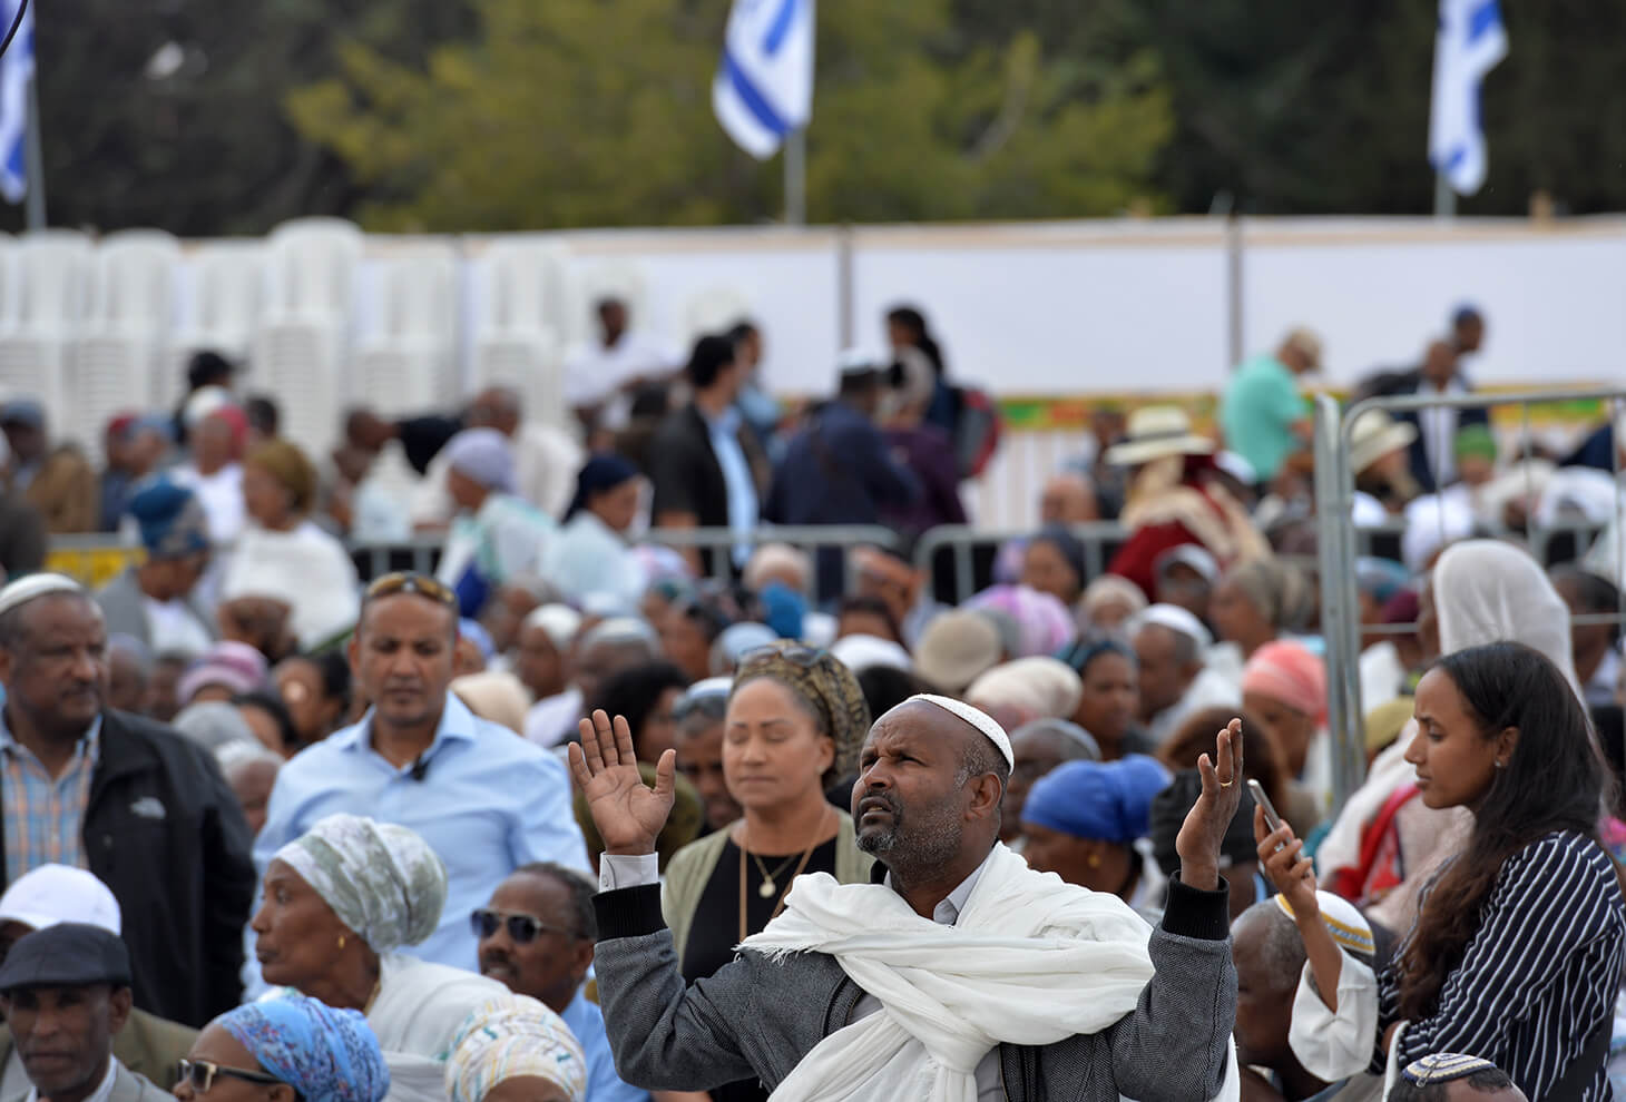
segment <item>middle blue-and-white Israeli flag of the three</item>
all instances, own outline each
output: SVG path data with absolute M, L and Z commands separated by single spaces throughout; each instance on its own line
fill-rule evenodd
M 758 161 L 813 117 L 813 0 L 733 0 L 712 111 Z

